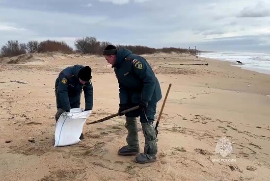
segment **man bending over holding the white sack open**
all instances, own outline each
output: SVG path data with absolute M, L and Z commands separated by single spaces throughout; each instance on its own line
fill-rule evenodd
M 85 111 L 93 108 L 93 86 L 91 83 L 91 68 L 74 65 L 62 70 L 55 80 L 55 96 L 57 112 L 56 123 L 63 112 L 81 105 L 81 92 L 84 92 Z M 83 139 L 81 133 L 80 139 Z

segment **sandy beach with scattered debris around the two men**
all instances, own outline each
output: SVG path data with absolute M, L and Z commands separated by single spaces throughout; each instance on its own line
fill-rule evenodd
M 126 144 L 123 116 L 85 124 L 79 144 L 54 148 L 54 82 L 65 67 L 92 68 L 94 108 L 87 122 L 117 112 L 117 79 L 103 57 L 44 53 L 0 60 L 1 181 L 270 181 L 270 75 L 189 54 L 144 57 L 162 87 L 156 116 L 172 87 L 158 128 L 158 161 L 143 165 L 117 155 Z M 81 103 L 84 108 L 83 96 Z M 216 153 L 222 137 L 233 149 L 225 158 Z

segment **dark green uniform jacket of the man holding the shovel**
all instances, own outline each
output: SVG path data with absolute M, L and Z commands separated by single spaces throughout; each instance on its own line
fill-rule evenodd
M 160 83 L 143 57 L 124 48 L 118 49 L 116 56 L 113 67 L 121 104 L 138 104 L 140 100 L 157 103 L 162 99 Z

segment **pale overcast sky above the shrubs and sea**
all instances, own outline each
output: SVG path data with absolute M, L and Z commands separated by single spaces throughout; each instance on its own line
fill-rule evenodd
M 7 40 L 270 51 L 270 0 L 0 0 Z

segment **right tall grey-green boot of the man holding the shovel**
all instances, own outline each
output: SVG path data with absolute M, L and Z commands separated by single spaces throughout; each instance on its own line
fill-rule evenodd
M 158 145 L 156 142 L 156 130 L 153 127 L 153 122 L 142 123 L 142 131 L 145 138 L 144 153 L 136 156 L 137 163 L 149 163 L 157 160 Z

